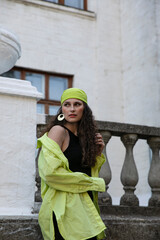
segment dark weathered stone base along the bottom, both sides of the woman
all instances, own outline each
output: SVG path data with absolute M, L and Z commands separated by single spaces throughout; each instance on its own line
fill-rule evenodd
M 100 206 L 100 209 L 107 226 L 106 240 L 160 240 L 160 207 Z M 38 215 L 0 216 L 0 240 L 43 240 Z

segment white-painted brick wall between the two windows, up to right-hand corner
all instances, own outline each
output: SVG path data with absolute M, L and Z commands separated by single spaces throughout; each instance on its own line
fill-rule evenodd
M 17 66 L 73 74 L 97 119 L 123 120 L 119 0 L 89 0 L 92 13 L 40 0 L 0 4 L 0 23 L 21 42 Z

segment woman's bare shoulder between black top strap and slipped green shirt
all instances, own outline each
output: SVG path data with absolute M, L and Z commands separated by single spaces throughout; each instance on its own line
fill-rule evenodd
M 53 126 L 48 132 L 48 137 L 58 143 L 60 148 L 62 148 L 64 139 L 66 137 L 66 130 L 59 125 Z

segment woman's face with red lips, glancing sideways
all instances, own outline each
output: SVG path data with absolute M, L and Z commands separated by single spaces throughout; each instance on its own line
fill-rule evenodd
M 70 98 L 62 104 L 62 112 L 67 122 L 79 122 L 83 116 L 84 104 L 83 101 Z

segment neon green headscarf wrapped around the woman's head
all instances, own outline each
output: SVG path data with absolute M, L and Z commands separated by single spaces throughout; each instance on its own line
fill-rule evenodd
M 69 98 L 76 98 L 82 100 L 83 102 L 87 103 L 87 95 L 86 93 L 79 89 L 79 88 L 68 88 L 64 90 L 61 96 L 61 104 Z

